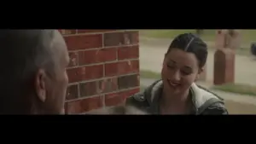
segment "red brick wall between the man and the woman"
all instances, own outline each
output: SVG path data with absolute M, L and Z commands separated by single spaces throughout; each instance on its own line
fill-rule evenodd
M 66 112 L 116 106 L 139 91 L 138 31 L 60 30 L 67 43 Z

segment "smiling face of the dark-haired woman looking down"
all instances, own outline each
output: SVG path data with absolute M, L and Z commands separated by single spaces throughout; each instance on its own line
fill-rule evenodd
M 193 53 L 173 48 L 163 62 L 161 72 L 165 90 L 173 95 L 185 93 L 202 69 Z

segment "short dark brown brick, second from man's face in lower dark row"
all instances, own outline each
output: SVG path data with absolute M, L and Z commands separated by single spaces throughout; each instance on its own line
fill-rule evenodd
M 96 95 L 98 93 L 97 85 L 98 85 L 97 81 L 79 84 L 80 96 L 84 97 L 84 96 Z

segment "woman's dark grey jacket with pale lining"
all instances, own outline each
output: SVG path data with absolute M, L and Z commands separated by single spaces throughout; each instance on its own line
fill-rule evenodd
M 162 93 L 162 80 L 154 82 L 143 92 L 137 93 L 129 97 L 125 105 L 137 107 L 143 112 L 150 114 L 159 114 L 159 98 Z M 195 115 L 223 115 L 228 114 L 224 107 L 224 100 L 211 91 L 203 87 L 192 84 L 189 89 L 189 94 L 192 96 L 193 109 L 191 114 Z

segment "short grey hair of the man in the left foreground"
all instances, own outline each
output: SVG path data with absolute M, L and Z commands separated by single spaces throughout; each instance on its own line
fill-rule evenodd
M 0 113 L 28 112 L 32 78 L 52 60 L 54 37 L 55 30 L 0 30 Z

